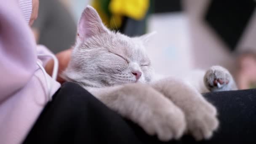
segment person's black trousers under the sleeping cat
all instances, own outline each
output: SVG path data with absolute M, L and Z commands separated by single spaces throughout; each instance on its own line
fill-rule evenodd
M 256 144 L 256 90 L 204 93 L 218 109 L 220 128 L 212 139 L 196 142 L 183 136 L 171 144 Z M 138 125 L 108 109 L 75 83 L 64 83 L 55 93 L 24 144 L 160 144 Z

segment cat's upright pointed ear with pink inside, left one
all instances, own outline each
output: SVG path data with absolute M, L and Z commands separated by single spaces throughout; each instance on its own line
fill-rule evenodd
M 94 35 L 99 35 L 104 32 L 109 32 L 107 27 L 101 21 L 101 18 L 97 11 L 88 5 L 78 22 L 77 36 L 80 41 L 84 41 Z

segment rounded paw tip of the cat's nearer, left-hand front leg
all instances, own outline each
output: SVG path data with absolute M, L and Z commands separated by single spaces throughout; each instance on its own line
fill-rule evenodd
M 158 109 L 158 110 L 157 110 Z M 141 124 L 149 135 L 157 135 L 161 141 L 179 139 L 186 129 L 184 113 L 175 105 L 158 107 L 141 115 Z

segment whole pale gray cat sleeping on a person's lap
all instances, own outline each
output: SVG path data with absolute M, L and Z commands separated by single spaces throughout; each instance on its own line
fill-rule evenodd
M 71 61 L 62 73 L 65 80 L 79 83 L 162 141 L 179 139 L 184 133 L 209 139 L 218 128 L 216 108 L 203 98 L 200 88 L 178 78 L 155 78 L 144 48 L 150 34 L 127 37 L 111 32 L 91 6 L 83 11 L 77 32 Z M 205 75 L 210 91 L 229 89 L 231 82 L 231 75 L 221 67 Z

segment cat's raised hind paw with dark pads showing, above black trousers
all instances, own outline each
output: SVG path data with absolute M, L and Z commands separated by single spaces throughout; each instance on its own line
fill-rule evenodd
M 204 84 L 209 91 L 237 90 L 235 80 L 227 69 L 213 66 L 205 72 Z

